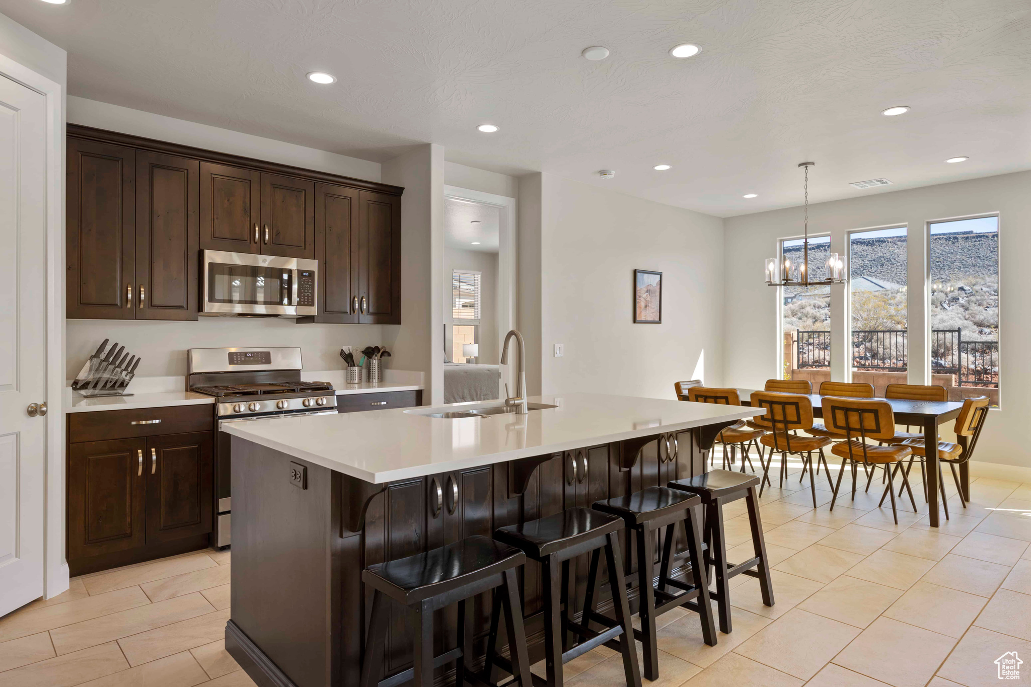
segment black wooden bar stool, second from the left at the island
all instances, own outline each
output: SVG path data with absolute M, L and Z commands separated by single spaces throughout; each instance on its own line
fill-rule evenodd
M 494 538 L 504 544 L 522 549 L 527 557 L 539 562 L 543 569 L 544 608 L 544 664 L 547 680 L 540 684 L 546 687 L 561 687 L 562 664 L 586 654 L 592 649 L 606 645 L 623 654 L 623 671 L 628 687 L 640 687 L 641 675 L 637 666 L 637 647 L 633 641 L 633 624 L 630 604 L 627 600 L 627 585 L 623 576 L 623 559 L 620 554 L 620 540 L 617 533 L 623 529 L 623 519 L 589 508 L 570 508 L 545 518 L 531 520 L 523 524 L 500 527 Z M 570 619 L 571 604 L 568 602 L 568 568 L 561 563 L 584 553 L 597 552 L 604 548 L 608 563 L 608 583 L 612 590 L 612 605 L 616 623 L 600 632 L 576 626 Z M 597 553 L 596 553 L 597 555 Z M 595 558 L 597 559 L 597 558 Z M 563 575 L 562 569 L 566 574 Z M 566 584 L 563 584 L 563 579 Z M 563 593 L 565 591 L 565 593 Z M 562 603 L 566 602 L 565 611 Z M 497 607 L 497 602 L 495 602 Z M 495 618 L 497 614 L 495 614 Z M 536 617 L 536 614 L 534 616 Z M 529 620 L 530 617 L 526 618 Z M 492 619 L 492 625 L 497 620 Z M 575 627 L 575 629 L 574 629 Z M 575 647 L 563 651 L 567 630 L 573 630 L 584 638 Z M 491 632 L 487 647 L 485 675 L 492 662 L 508 671 L 507 661 L 496 655 Z M 617 642 L 616 638 L 622 639 Z M 534 680 L 534 684 L 538 684 Z

